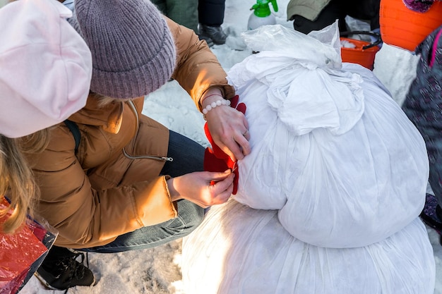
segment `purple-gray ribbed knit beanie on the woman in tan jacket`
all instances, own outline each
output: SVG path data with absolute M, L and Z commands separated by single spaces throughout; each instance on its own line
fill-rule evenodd
M 135 98 L 157 90 L 171 77 L 174 40 L 150 1 L 76 0 L 69 22 L 92 52 L 92 92 Z

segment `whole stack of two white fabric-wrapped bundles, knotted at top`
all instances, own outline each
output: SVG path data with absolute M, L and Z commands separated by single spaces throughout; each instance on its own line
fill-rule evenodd
M 244 39 L 260 53 L 227 78 L 252 152 L 234 200 L 184 240 L 187 293 L 432 294 L 417 129 L 371 71 L 342 65 L 337 24 Z

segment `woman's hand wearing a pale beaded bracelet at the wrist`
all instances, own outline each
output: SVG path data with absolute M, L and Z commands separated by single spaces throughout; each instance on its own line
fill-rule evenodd
M 212 102 L 223 99 L 220 90 L 216 90 L 219 94 L 215 90 L 205 94 L 207 98 L 203 99 L 203 108 Z M 249 123 L 241 111 L 225 105 L 217 106 L 205 114 L 205 119 L 213 141 L 233 161 L 243 159 L 245 155 L 250 153 Z

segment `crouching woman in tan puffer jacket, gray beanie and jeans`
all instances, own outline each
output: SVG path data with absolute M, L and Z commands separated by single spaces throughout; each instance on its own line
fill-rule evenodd
M 232 193 L 231 171 L 203 171 L 204 147 L 141 114 L 146 94 L 177 80 L 198 109 L 208 110 L 218 146 L 232 159 L 250 152 L 246 119 L 225 100 L 234 89 L 192 30 L 145 0 L 76 0 L 70 23 L 92 52 L 88 102 L 69 118 L 80 145 L 76 151 L 61 123 L 44 152 L 30 157 L 41 190 L 37 210 L 59 231 L 38 274 L 58 289 L 93 283 L 88 269 L 78 278 L 77 269 L 85 271 L 78 262 L 56 267 L 69 256 L 62 247 L 120 252 L 162 245 L 189 234 L 205 207 Z

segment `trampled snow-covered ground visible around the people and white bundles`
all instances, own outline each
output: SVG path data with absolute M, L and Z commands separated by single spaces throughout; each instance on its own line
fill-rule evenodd
M 249 49 L 245 49 L 239 35 L 246 30 L 249 9 L 254 3 L 254 0 L 226 0 L 225 23 L 222 26 L 229 32 L 229 37 L 227 44 L 213 47 L 213 52 L 226 71 L 251 54 Z M 277 1 L 279 11 L 275 16 L 277 23 L 292 27 L 292 23 L 286 21 L 287 3 L 288 0 Z M 376 54 L 374 73 L 390 90 L 398 104 L 402 104 L 405 98 L 414 78 L 416 64 L 417 56 L 388 44 L 384 44 Z M 143 112 L 172 130 L 208 145 L 203 132 L 203 117 L 177 82 L 168 82 L 160 90 L 146 97 Z M 429 228 L 428 232 L 434 247 L 436 277 L 439 277 L 436 278 L 434 293 L 442 294 L 442 246 L 436 231 Z M 181 241 L 150 250 L 89 254 L 89 264 L 97 278 L 97 285 L 71 288 L 68 293 L 192 294 L 184 293 L 181 283 Z M 49 293 L 63 292 L 45 290 L 35 277 L 20 291 L 20 294 Z

